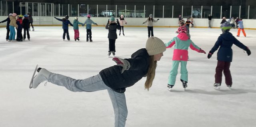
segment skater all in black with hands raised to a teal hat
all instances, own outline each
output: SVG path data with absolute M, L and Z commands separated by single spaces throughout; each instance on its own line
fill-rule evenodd
M 116 23 L 117 22 L 117 23 Z M 108 23 L 106 25 L 106 29 L 108 30 L 108 56 L 112 53 L 113 56 L 116 55 L 116 39 L 117 39 L 117 34 L 116 34 L 116 29 L 121 30 L 121 26 L 118 22 L 118 19 L 116 19 L 114 16 L 111 16 L 110 19 L 108 19 Z

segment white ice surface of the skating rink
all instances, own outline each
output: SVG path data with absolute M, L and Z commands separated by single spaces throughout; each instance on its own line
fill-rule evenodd
M 30 40 L 6 42 L 6 29 L 0 28 L 0 127 L 113 127 L 114 111 L 106 90 L 71 92 L 52 83 L 29 89 L 36 64 L 54 73 L 85 79 L 115 65 L 108 58 L 108 30 L 92 27 L 93 42 L 86 42 L 80 27 L 80 41 L 62 40 L 62 27 L 39 27 L 30 31 Z M 154 28 L 154 36 L 165 43 L 177 28 Z M 230 32 L 236 36 L 237 30 Z M 167 90 L 174 48 L 168 48 L 158 62 L 149 91 L 146 78 L 126 89 L 128 117 L 126 127 L 255 127 L 256 121 L 256 30 L 245 30 L 247 37 L 236 37 L 252 52 L 233 45 L 230 71 L 232 90 L 225 84 L 213 88 L 217 51 L 208 59 L 220 29 L 190 28 L 191 40 L 207 54 L 189 49 L 188 87 L 184 91 L 180 70 L 173 91 Z M 130 58 L 145 48 L 147 28 L 124 26 L 125 36 L 116 40 L 116 57 Z

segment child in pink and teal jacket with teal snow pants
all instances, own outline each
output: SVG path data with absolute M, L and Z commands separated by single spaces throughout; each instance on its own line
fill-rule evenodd
M 192 50 L 195 50 L 199 53 L 204 53 L 204 50 L 196 46 L 192 40 L 190 40 L 186 34 L 187 29 L 184 26 L 178 28 L 178 36 L 174 37 L 170 42 L 166 43 L 166 48 L 171 48 L 174 46 L 173 56 L 172 56 L 172 70 L 170 71 L 169 79 L 168 79 L 168 90 L 172 90 L 172 87 L 175 85 L 176 76 L 178 74 L 178 67 L 180 64 L 180 81 L 184 89 L 188 86 L 188 70 L 187 70 L 187 62 L 188 62 L 188 47 Z

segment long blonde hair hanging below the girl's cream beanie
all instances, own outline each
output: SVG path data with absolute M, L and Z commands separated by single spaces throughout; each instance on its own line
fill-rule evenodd
M 152 86 L 155 74 L 156 74 L 156 63 L 157 61 L 154 61 L 154 55 L 150 56 L 149 58 L 149 66 L 148 66 L 148 73 L 147 73 L 147 80 L 145 82 L 145 89 L 148 89 Z

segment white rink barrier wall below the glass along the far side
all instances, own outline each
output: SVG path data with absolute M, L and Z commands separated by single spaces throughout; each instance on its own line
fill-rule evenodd
M 7 16 L 0 16 L 0 21 L 5 20 Z M 64 17 L 57 17 L 64 18 Z M 70 17 L 69 20 L 73 23 L 74 17 Z M 78 17 L 78 21 L 84 23 L 87 18 Z M 107 17 L 92 17 L 95 23 L 99 26 L 105 27 L 108 22 Z M 119 19 L 119 18 L 116 18 Z M 154 18 L 158 19 L 158 18 Z M 154 23 L 154 27 L 158 28 L 177 28 L 178 27 L 178 18 L 159 18 L 158 22 Z M 127 25 L 125 27 L 147 27 L 146 23 L 142 24 L 146 18 L 125 18 Z M 220 28 L 220 22 L 222 19 L 212 19 L 211 26 L 212 28 Z M 247 30 L 256 30 L 256 20 L 244 19 L 244 29 Z M 194 27 L 195 28 L 208 28 L 208 18 L 194 18 Z M 62 22 L 56 20 L 54 17 L 40 17 L 33 16 L 33 26 L 62 26 Z M 80 25 L 81 26 L 81 25 Z M 96 26 L 96 25 L 92 25 Z M 0 27 L 6 27 L 6 22 L 1 23 Z

